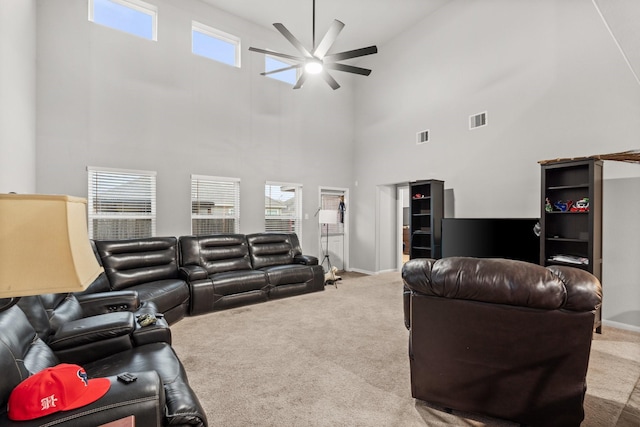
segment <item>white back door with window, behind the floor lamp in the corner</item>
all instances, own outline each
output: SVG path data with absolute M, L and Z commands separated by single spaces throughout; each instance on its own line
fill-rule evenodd
M 318 223 L 320 256 L 329 255 L 331 265 L 339 271 L 349 270 L 349 191 L 320 187 L 320 209 L 336 212 L 335 224 Z M 324 264 L 327 269 L 326 262 Z

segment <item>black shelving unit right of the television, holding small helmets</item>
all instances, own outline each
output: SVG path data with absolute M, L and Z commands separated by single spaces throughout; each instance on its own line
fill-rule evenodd
M 541 265 L 580 268 L 602 281 L 602 165 L 595 159 L 542 165 Z M 601 311 L 595 328 L 602 330 Z

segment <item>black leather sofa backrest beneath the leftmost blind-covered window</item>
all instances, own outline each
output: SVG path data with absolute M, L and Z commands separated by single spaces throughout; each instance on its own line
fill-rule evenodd
M 95 245 L 113 290 L 178 278 L 175 237 L 96 240 Z

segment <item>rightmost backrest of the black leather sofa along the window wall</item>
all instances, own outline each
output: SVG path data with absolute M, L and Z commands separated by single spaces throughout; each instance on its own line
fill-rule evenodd
M 297 236 L 293 236 L 297 242 Z M 291 233 L 249 234 L 247 242 L 249 243 L 251 264 L 255 269 L 293 263 L 295 254 L 293 253 Z

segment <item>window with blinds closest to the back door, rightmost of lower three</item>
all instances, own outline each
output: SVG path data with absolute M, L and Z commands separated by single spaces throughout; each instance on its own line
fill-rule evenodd
M 302 231 L 302 185 L 267 182 L 264 187 L 265 231 Z

